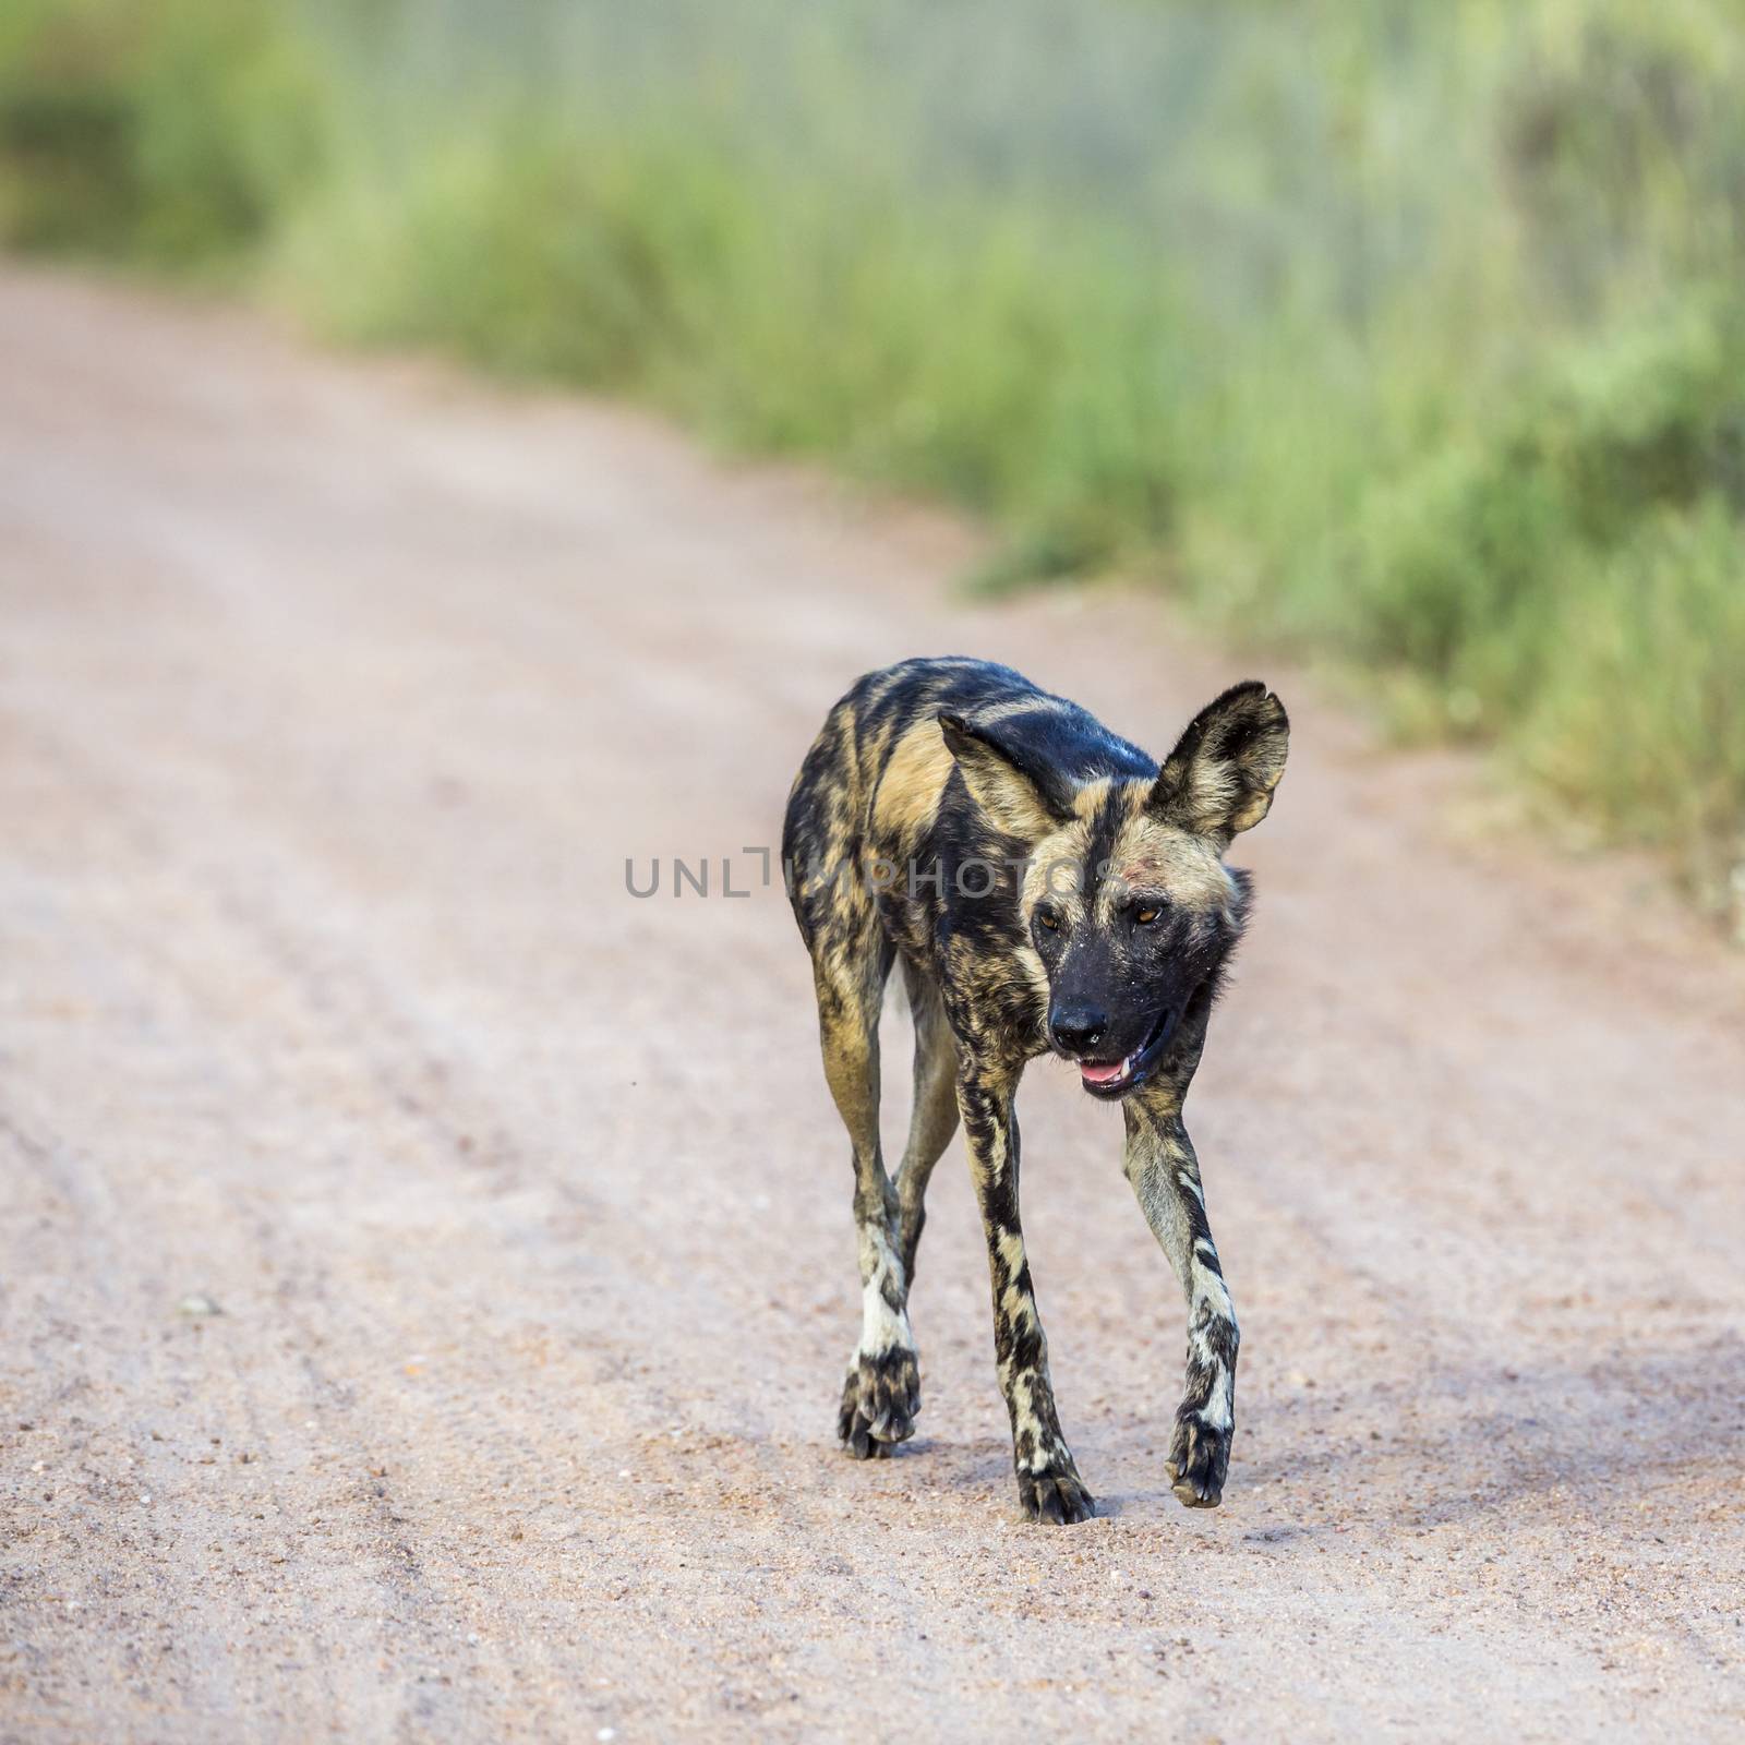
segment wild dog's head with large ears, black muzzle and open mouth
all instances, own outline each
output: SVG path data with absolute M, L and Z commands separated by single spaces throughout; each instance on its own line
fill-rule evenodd
M 1195 996 L 1209 998 L 1248 909 L 1223 864 L 1284 775 L 1290 721 L 1255 681 L 1194 717 L 1157 777 L 1070 775 L 941 717 L 981 810 L 1033 843 L 1019 897 L 1049 981 L 1049 1044 L 1094 1096 L 1138 1089 Z

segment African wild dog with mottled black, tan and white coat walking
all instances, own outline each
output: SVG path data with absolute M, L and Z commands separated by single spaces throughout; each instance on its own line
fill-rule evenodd
M 914 1433 L 909 1283 L 927 1180 L 961 1115 L 1017 1494 L 1037 1518 L 1092 1513 L 1056 1417 L 1017 1213 L 1014 1096 L 1024 1063 L 1052 1049 L 1091 1096 L 1122 1103 L 1127 1180 L 1188 1300 L 1167 1469 L 1181 1502 L 1220 1502 L 1235 1312 L 1181 1103 L 1248 916 L 1248 876 L 1223 852 L 1267 815 L 1288 738 L 1279 700 L 1239 684 L 1159 770 L 1077 703 L 958 658 L 867 674 L 825 719 L 794 780 L 782 857 L 824 1071 L 853 1143 L 862 1326 L 838 1434 L 862 1459 Z M 879 1152 L 878 1014 L 897 958 L 914 1110 L 893 1181 Z

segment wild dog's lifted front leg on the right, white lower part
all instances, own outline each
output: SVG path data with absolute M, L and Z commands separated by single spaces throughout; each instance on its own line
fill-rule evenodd
M 1215 1509 L 1223 1499 L 1235 1431 L 1235 1307 L 1206 1222 L 1199 1159 L 1181 1124 L 1180 1098 L 1159 1087 L 1152 1096 L 1129 1098 L 1122 1108 L 1127 1180 L 1188 1300 L 1187 1393 L 1176 1408 L 1169 1478 L 1190 1509 Z

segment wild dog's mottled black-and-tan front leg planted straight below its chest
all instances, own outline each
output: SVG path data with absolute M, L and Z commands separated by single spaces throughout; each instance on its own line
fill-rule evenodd
M 1017 1495 L 1033 1520 L 1082 1522 L 1096 1513 L 1096 1502 L 1073 1466 L 1054 1410 L 1049 1342 L 1037 1314 L 1017 1215 L 1017 1112 L 1012 1098 L 1019 1071 L 1023 1068 L 967 1066 L 958 1077 L 958 1108 L 968 1139 L 982 1234 L 988 1237 L 995 1361 L 1012 1419 Z

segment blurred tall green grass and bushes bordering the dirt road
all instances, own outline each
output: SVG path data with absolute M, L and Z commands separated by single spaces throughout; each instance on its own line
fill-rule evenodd
M 1745 862 L 1726 0 L 19 0 L 0 236 L 633 394 Z

